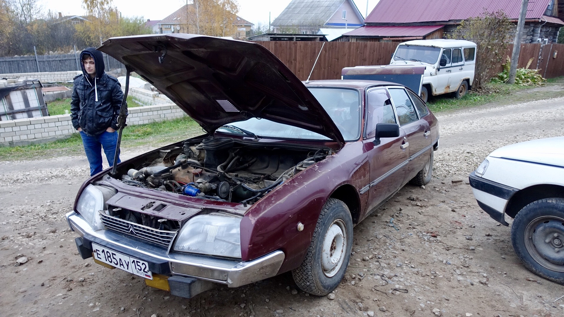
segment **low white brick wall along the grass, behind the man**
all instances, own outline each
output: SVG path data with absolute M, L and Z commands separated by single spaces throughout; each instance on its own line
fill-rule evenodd
M 186 116 L 175 104 L 130 108 L 127 124 L 140 125 Z M 0 121 L 0 146 L 24 146 L 68 138 L 74 130 L 70 115 Z

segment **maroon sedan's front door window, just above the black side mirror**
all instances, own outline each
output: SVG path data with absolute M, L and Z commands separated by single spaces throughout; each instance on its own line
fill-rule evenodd
M 394 109 L 390 102 L 390 95 L 385 89 L 368 91 L 367 95 L 367 138 L 374 137 L 376 124 L 395 124 Z

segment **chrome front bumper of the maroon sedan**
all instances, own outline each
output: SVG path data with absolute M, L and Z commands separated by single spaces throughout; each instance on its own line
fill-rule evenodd
M 117 234 L 111 230 L 93 230 L 82 215 L 70 212 L 66 215 L 70 228 L 81 236 L 77 247 L 83 257 L 91 251 L 91 243 L 105 246 L 146 261 L 149 270 L 156 274 L 185 276 L 228 287 L 240 287 L 255 281 L 275 276 L 282 262 L 284 252 L 276 250 L 252 261 L 237 261 L 199 256 L 195 254 L 173 253 L 168 250 L 143 243 L 135 237 Z M 91 256 L 91 254 L 90 254 Z

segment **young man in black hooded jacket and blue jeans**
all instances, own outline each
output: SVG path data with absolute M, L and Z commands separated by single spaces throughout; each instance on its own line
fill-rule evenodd
M 120 82 L 104 72 L 102 52 L 89 47 L 80 53 L 82 75 L 74 77 L 70 118 L 80 132 L 90 176 L 102 171 L 102 148 L 113 166 L 117 144 L 117 117 L 124 93 Z M 120 162 L 118 157 L 117 162 Z

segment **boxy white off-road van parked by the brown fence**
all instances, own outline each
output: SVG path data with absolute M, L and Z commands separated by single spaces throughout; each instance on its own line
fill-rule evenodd
M 390 65 L 424 65 L 421 98 L 464 96 L 474 81 L 476 43 L 462 39 L 416 39 L 398 45 Z

